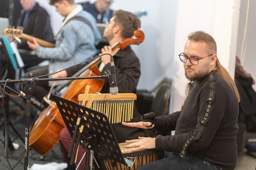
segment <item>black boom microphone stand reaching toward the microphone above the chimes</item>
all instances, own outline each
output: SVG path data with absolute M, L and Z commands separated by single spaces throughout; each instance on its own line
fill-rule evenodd
M 20 80 L 2 80 L 0 83 L 24 83 L 23 92 L 26 95 L 26 125 L 25 125 L 25 161 L 24 161 L 24 170 L 30 169 L 28 164 L 28 143 L 29 143 L 29 123 L 31 115 L 31 96 L 35 91 L 35 84 L 39 81 L 61 81 L 61 80 L 81 80 L 81 79 L 109 79 L 110 75 L 101 75 L 101 76 L 91 76 L 91 77 L 70 77 L 70 78 L 23 78 Z

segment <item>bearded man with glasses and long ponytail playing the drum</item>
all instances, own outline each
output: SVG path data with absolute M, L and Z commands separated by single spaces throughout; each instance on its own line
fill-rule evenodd
M 196 31 L 188 35 L 184 52 L 179 55 L 190 81 L 180 111 L 170 115 L 143 116 L 140 122 L 124 125 L 174 131 L 174 135 L 126 140 L 125 148 L 165 151 L 165 158 L 145 164 L 147 169 L 225 169 L 237 163 L 239 93 L 228 71 L 219 63 L 212 36 Z

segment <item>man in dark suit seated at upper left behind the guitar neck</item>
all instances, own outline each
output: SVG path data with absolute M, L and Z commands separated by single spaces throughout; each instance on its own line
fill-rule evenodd
M 20 4 L 23 10 L 20 11 L 16 26 L 22 26 L 25 34 L 54 43 L 50 16 L 47 11 L 35 0 L 20 0 Z M 21 43 L 17 43 L 17 47 L 23 49 L 20 50 L 20 55 L 26 64 L 25 69 L 44 61 L 42 58 L 31 56 L 27 40 L 21 39 Z

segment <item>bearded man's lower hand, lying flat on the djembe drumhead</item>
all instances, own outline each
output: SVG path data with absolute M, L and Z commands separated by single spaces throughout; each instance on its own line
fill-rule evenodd
M 133 148 L 132 151 L 140 151 L 143 149 L 155 149 L 155 140 L 156 138 L 150 137 L 139 137 L 139 139 L 126 140 L 125 142 L 130 143 L 129 145 L 125 145 L 125 148 Z

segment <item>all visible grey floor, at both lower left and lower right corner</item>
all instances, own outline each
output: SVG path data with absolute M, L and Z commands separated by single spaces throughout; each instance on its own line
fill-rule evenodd
M 20 103 L 20 102 L 18 102 Z M 21 136 L 21 138 L 18 137 L 18 135 L 15 133 L 15 131 L 12 129 L 12 127 L 9 125 L 9 136 L 11 140 L 14 143 L 19 144 L 18 150 L 10 150 L 8 153 L 8 161 L 14 170 L 24 170 L 23 165 L 25 164 L 25 158 L 24 158 L 24 151 L 25 151 L 25 145 L 24 145 L 24 139 L 25 139 L 25 112 L 24 111 L 18 111 L 19 106 L 17 104 L 10 106 L 10 116 L 9 120 L 11 120 L 14 129 L 17 131 L 17 133 Z M 31 117 L 30 117 L 30 123 L 33 122 L 33 119 L 37 113 L 37 109 L 32 107 L 31 111 Z M 10 169 L 10 166 L 8 165 L 7 159 L 5 158 L 5 146 L 4 146 L 4 136 L 3 136 L 3 119 L 2 119 L 2 111 L 0 111 L 0 170 L 8 170 Z M 29 150 L 29 157 L 28 157 L 28 164 L 30 167 L 33 164 L 47 164 L 51 162 L 61 163 L 61 154 L 59 150 L 58 144 L 53 148 L 51 152 L 46 154 L 44 157 L 40 156 L 33 150 Z M 246 149 L 244 149 L 243 153 L 238 156 L 238 163 L 235 170 L 255 170 L 256 167 L 256 158 L 247 155 Z

